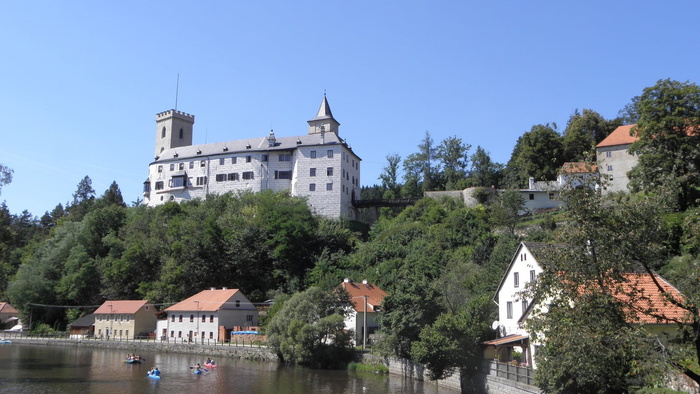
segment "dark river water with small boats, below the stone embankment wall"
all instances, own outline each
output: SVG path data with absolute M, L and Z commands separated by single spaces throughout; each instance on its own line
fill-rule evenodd
M 201 375 L 199 355 L 144 352 L 126 364 L 115 349 L 28 344 L 0 345 L 0 393 L 456 393 L 401 376 L 312 370 L 270 362 L 219 358 Z M 152 367 L 161 379 L 148 378 Z

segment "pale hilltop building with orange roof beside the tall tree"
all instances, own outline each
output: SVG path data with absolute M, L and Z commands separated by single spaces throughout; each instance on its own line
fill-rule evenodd
M 609 177 L 605 193 L 627 191 L 627 173 L 639 162 L 639 158 L 629 152 L 630 146 L 639 139 L 634 135 L 634 126 L 620 126 L 596 145 L 600 173 Z

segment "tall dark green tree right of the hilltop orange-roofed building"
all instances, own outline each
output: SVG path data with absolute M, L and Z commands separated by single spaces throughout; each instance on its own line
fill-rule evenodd
M 700 87 L 660 80 L 644 89 L 637 103 L 639 139 L 630 152 L 639 162 L 628 174 L 633 191 L 652 191 L 676 183 L 681 208 L 700 198 Z

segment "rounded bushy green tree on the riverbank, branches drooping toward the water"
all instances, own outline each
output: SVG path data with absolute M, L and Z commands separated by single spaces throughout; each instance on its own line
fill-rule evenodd
M 345 331 L 347 293 L 318 287 L 294 294 L 275 313 L 267 344 L 285 362 L 338 367 L 352 358 L 352 333 Z

